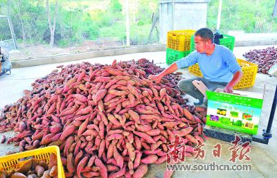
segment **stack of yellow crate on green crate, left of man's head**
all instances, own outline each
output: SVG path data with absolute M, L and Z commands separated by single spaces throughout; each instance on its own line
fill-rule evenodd
M 195 30 L 172 30 L 168 32 L 166 43 L 167 64 L 172 64 L 190 53 L 190 39 L 194 34 Z

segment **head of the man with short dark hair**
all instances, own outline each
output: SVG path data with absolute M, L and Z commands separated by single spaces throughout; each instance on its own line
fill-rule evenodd
M 213 46 L 213 32 L 209 28 L 201 28 L 195 32 L 195 48 L 199 53 L 206 53 Z

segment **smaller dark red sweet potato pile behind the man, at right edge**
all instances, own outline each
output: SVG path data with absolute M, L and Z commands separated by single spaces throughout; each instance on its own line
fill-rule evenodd
M 254 49 L 244 53 L 249 62 L 258 64 L 258 73 L 268 73 L 271 66 L 277 63 L 277 48 Z

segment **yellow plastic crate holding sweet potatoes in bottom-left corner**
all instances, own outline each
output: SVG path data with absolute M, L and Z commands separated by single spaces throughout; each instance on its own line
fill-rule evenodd
M 57 146 L 49 146 L 46 148 L 39 148 L 0 157 L 0 170 L 6 170 L 6 172 L 18 170 L 24 165 L 24 163 L 26 163 L 26 161 L 28 161 L 28 159 L 35 159 L 37 161 L 43 160 L 46 161 L 46 163 L 49 163 L 51 153 L 54 153 L 57 156 L 57 177 L 65 178 L 64 168 L 62 167 L 62 161 L 60 159 L 60 149 Z M 26 158 L 26 160 L 19 161 L 19 159 L 22 158 Z

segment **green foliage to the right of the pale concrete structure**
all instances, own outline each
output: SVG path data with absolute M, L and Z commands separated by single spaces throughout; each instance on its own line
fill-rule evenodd
M 215 30 L 217 24 L 218 0 L 208 3 L 207 25 Z M 249 0 L 222 1 L 220 32 L 244 30 L 245 33 L 269 33 L 277 30 L 277 19 L 271 16 L 274 1 Z

